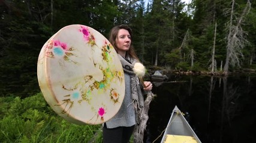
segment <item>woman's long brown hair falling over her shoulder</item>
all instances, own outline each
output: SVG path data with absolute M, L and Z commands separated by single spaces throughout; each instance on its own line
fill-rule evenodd
M 118 32 L 119 32 L 120 29 L 128 30 L 129 35 L 131 36 L 131 39 L 132 39 L 132 30 L 129 26 L 127 26 L 125 24 L 121 24 L 119 26 L 113 27 L 110 31 L 109 42 L 113 45 L 116 52 L 118 52 L 118 48 L 116 47 L 116 39 L 118 37 Z M 131 43 L 132 43 L 132 40 L 131 40 Z M 132 58 L 135 58 L 136 60 L 138 60 L 138 57 L 135 54 L 135 51 L 134 51 L 134 48 L 133 48 L 132 44 L 130 45 L 129 50 L 127 51 L 127 54 L 129 54 Z

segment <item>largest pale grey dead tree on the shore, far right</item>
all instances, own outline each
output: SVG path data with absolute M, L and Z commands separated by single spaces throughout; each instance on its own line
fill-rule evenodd
M 251 2 L 248 0 L 246 7 L 243 10 L 243 13 L 239 18 L 236 17 L 234 12 L 235 1 L 231 1 L 231 9 L 226 11 L 226 14 L 230 14 L 230 20 L 226 25 L 228 34 L 226 36 L 227 40 L 227 55 L 224 66 L 224 74 L 228 73 L 228 67 L 238 66 L 240 67 L 240 58 L 243 58 L 242 49 L 245 47 L 248 41 L 245 39 L 247 32 L 243 31 L 242 24 L 245 20 L 246 15 L 248 15 L 251 9 Z

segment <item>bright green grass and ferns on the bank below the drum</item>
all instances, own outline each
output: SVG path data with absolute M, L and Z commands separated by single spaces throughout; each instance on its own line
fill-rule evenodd
M 42 94 L 0 97 L 1 142 L 101 142 L 101 125 L 75 125 L 58 116 Z M 94 136 L 98 132 L 98 136 Z

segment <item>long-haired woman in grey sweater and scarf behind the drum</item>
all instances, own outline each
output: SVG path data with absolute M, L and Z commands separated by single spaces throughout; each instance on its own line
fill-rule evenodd
M 125 97 L 118 113 L 104 123 L 104 143 L 129 142 L 135 124 L 141 122 L 140 114 L 143 113 L 144 105 L 143 92 L 152 90 L 152 83 L 144 82 L 146 88 L 143 88 L 132 71 L 134 64 L 139 60 L 131 46 L 131 36 L 131 29 L 124 24 L 113 27 L 110 32 L 109 41 L 116 49 L 125 73 Z M 144 90 L 141 91 L 141 89 Z

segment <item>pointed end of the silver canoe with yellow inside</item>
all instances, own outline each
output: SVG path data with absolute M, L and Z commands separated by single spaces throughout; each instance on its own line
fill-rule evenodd
M 201 143 L 200 139 L 197 137 L 177 106 L 173 109 L 173 113 L 171 114 L 161 141 L 161 143 L 169 142 Z

